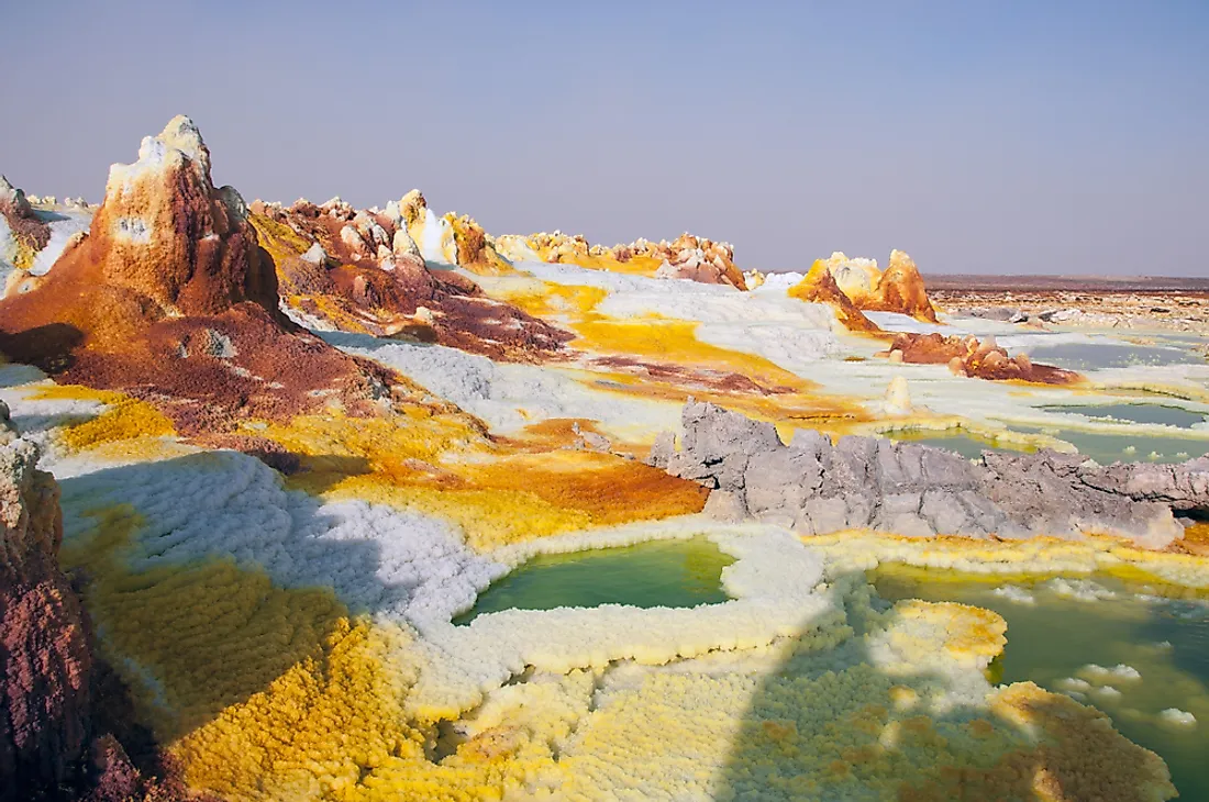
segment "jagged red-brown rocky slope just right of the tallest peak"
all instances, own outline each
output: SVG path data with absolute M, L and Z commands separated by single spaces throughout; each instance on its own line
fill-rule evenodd
M 538 361 L 560 351 L 569 332 L 487 298 L 461 273 L 428 267 L 412 232 L 423 237 L 438 221 L 451 227 L 458 266 L 511 269 L 478 223 L 435 217 L 417 191 L 384 211 L 358 210 L 339 198 L 322 205 L 251 204 L 282 301 L 312 329 L 436 342 L 503 360 Z

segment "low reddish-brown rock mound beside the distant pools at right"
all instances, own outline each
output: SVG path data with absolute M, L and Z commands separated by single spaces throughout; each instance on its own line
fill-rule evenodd
M 1082 380 L 1074 371 L 1034 364 L 1024 354 L 1010 356 L 1006 349 L 995 343 L 994 337 L 979 342 L 973 336 L 901 333 L 880 355 L 914 365 L 948 365 L 958 376 L 980 379 L 1018 379 L 1040 384 L 1075 384 Z

